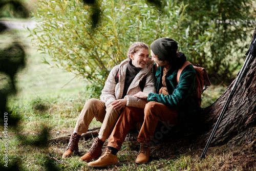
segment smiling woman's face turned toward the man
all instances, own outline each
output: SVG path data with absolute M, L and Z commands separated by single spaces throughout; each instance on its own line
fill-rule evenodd
M 136 53 L 131 54 L 130 58 L 134 67 L 145 68 L 148 61 L 148 50 L 144 48 L 139 49 Z

